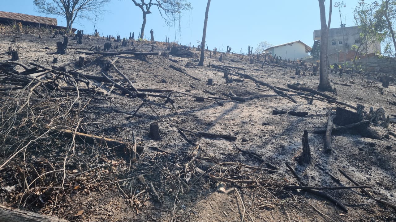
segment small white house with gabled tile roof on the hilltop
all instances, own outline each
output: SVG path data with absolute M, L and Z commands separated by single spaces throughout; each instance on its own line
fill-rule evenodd
M 312 48 L 310 46 L 298 40 L 272 46 L 264 50 L 264 53 L 269 53 L 272 56 L 280 56 L 282 59 L 298 60 L 307 57 L 311 50 Z

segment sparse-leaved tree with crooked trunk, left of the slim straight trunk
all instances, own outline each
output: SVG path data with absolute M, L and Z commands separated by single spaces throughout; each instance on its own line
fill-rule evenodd
M 175 21 L 180 19 L 181 11 L 192 9 L 191 4 L 186 0 L 132 0 L 135 6 L 139 7 L 143 12 L 143 23 L 140 31 L 140 38 L 143 39 L 145 34 L 145 27 L 147 14 L 151 14 L 151 7 L 157 7 L 161 17 L 165 20 L 167 25 L 172 25 Z

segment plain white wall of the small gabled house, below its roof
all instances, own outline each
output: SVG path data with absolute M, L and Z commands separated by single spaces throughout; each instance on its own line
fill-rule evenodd
M 290 60 L 299 60 L 308 56 L 308 53 L 305 52 L 305 45 L 299 42 L 274 47 L 273 53 L 276 56 L 281 56 L 282 59 Z

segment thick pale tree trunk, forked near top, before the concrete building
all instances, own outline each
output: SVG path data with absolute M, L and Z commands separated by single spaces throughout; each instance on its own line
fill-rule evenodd
M 329 7 L 329 21 L 326 24 L 326 10 L 324 1 L 325 0 L 318 0 L 319 1 L 319 11 L 320 11 L 320 69 L 319 69 L 319 86 L 318 89 L 324 91 L 332 91 L 328 74 L 329 70 L 327 69 L 327 47 L 329 45 L 328 38 L 329 38 L 329 28 L 331 23 L 331 9 L 332 9 L 332 0 L 330 0 L 330 7 Z

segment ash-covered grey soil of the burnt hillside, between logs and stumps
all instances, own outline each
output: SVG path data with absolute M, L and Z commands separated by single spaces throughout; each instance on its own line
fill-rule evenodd
M 298 156 L 302 152 L 303 131 L 326 129 L 328 115 L 335 116 L 337 104 L 326 100 L 313 100 L 309 104 L 309 99 L 294 92 L 285 92 L 296 100 L 297 103 L 293 103 L 249 79 L 226 84 L 223 70 L 210 66 L 242 68 L 228 68 L 230 76 L 238 79 L 242 79 L 235 76 L 239 72 L 275 87 L 287 88 L 287 83 L 299 83 L 316 89 L 319 76 L 295 75 L 296 66 L 303 68 L 299 62 L 286 62 L 283 65 L 287 68 L 262 66 L 257 61 L 249 64 L 248 56 L 232 54 L 223 54 L 223 60 L 219 62 L 221 53 L 213 55 L 207 51 L 204 66 L 186 68 L 187 62 L 198 64 L 198 58 L 78 53 L 89 52 L 95 45 L 103 48 L 107 42 L 105 38 L 92 36 L 91 39 L 84 36 L 83 44 L 69 38 L 67 55 L 57 55 L 52 53 L 56 52 L 56 42 L 62 41 L 63 37 L 51 38 L 51 34 L 44 31 L 41 36 L 42 39 L 38 39 L 37 32 L 18 34 L 6 28 L 1 33 L 0 49 L 6 52 L 10 46 L 19 48 L 20 60 L 17 63 L 27 68 L 34 67 L 30 62 L 48 69 L 53 65 L 70 63 L 66 66 L 67 71 L 76 70 L 82 74 L 80 79 L 84 75 L 101 77 L 101 72 L 104 72 L 113 79 L 122 80 L 114 68 L 109 68 L 109 62 L 117 58 L 114 65 L 133 82 L 139 93 L 169 95 L 169 91 L 148 92 L 145 89 L 177 92 L 169 96 L 174 101 L 172 105 L 166 98 L 132 98 L 109 82 L 88 79 L 96 93 L 49 90 L 42 87 L 45 85 L 42 83 L 36 87 L 38 94 L 30 93 L 31 98 L 27 101 L 29 92 L 34 91 L 31 90 L 32 85 L 10 90 L 11 82 L 2 82 L 2 205 L 69 221 L 211 222 L 241 221 L 242 218 L 256 222 L 396 221 L 395 209 L 377 203 L 359 189 L 322 190 L 343 203 L 348 212 L 310 192 L 279 185 L 225 182 L 226 190 L 236 190 L 229 194 L 217 192 L 222 184 L 213 177 L 299 185 L 286 167 L 285 163 L 288 163 L 309 186 L 353 186 L 339 172 L 338 169 L 342 169 L 359 184 L 370 186 L 372 189 L 366 190 L 374 197 L 396 203 L 396 138 L 389 135 L 389 132 L 396 132 L 395 123 L 391 121 L 387 128 L 371 124 L 371 128 L 388 139 L 365 138 L 353 130 L 334 134 L 331 136 L 333 150 L 330 154 L 324 152 L 323 134 L 308 134 L 312 162 L 301 165 Z M 16 43 L 11 42 L 13 38 L 16 38 Z M 153 49 L 154 52 L 169 52 L 168 43 L 134 41 L 133 45 L 129 42 L 127 47 L 121 47 L 121 43 L 111 42 L 120 45 L 119 49 L 112 51 L 148 52 Z M 192 51 L 198 53 L 195 49 Z M 76 64 L 80 56 L 89 61 L 85 66 Z M 51 64 L 53 57 L 58 58 L 57 64 Z M 7 62 L 10 58 L 3 53 L 0 62 Z M 170 68 L 170 65 L 183 68 L 188 75 L 202 81 L 192 79 Z M 312 66 L 308 67 L 307 73 L 312 73 Z M 19 72 L 24 71 L 21 66 L 15 68 Z M 38 74 L 30 76 L 35 75 Z M 342 77 L 330 73 L 329 79 L 334 83 L 351 86 L 332 83 L 337 88 L 337 95 L 325 93 L 354 106 L 362 104 L 366 111 L 369 107 L 374 110 L 383 107 L 386 115 L 396 114 L 395 106 L 388 102 L 396 100 L 392 95 L 396 93 L 394 82 L 389 88 L 382 88 L 378 77 L 378 73 L 362 72 Z M 72 86 L 70 79 L 59 79 L 59 86 Z M 213 85 L 206 84 L 208 79 L 213 79 Z M 117 83 L 131 90 L 126 81 Z M 87 86 L 78 82 L 78 87 Z M 246 101 L 232 100 L 222 94 L 230 91 Z M 225 100 L 215 99 L 221 104 L 208 99 L 197 101 L 189 95 Z M 308 115 L 272 115 L 274 109 L 307 111 Z M 354 111 L 349 107 L 346 109 Z M 152 122 L 159 124 L 160 140 L 149 136 Z M 84 143 L 74 134 L 68 137 L 47 132 L 46 129 L 51 127 L 128 144 L 133 144 L 134 134 L 136 144 L 143 147 L 143 152 L 133 161 L 130 147 L 120 150 L 101 143 Z M 210 138 L 198 132 L 232 135 L 236 140 Z M 265 162 L 238 148 L 257 154 Z M 268 173 L 266 168 L 270 166 L 276 166 L 277 172 Z M 73 176 L 76 174 L 78 176 Z M 48 192 L 51 187 L 55 189 Z

